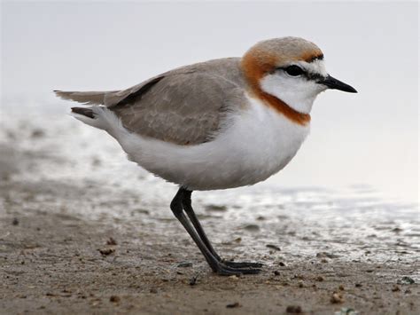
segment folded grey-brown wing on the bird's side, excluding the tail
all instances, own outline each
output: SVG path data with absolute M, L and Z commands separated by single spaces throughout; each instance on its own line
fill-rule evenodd
M 222 76 L 191 72 L 159 77 L 147 89 L 109 106 L 125 128 L 178 145 L 210 141 L 232 106 L 244 98 Z

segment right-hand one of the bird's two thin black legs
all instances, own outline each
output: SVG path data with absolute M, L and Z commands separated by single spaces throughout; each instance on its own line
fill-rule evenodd
M 191 206 L 191 191 L 186 190 L 184 188 L 183 189 L 183 209 L 185 211 L 185 213 L 187 214 L 188 217 L 190 217 L 191 223 L 192 225 L 194 225 L 194 228 L 196 229 L 196 232 L 198 232 L 198 236 L 199 238 L 203 241 L 203 243 L 206 245 L 206 248 L 210 251 L 210 253 L 212 253 L 212 255 L 219 261 L 222 262 L 223 264 L 228 265 L 229 267 L 239 267 L 239 268 L 259 268 L 262 266 L 262 264 L 260 263 L 248 263 L 248 262 L 241 262 L 241 263 L 237 263 L 237 262 L 229 262 L 226 260 L 222 260 L 221 256 L 217 255 L 216 251 L 214 250 L 212 243 L 210 242 L 210 240 L 208 240 L 206 232 L 204 232 L 203 227 L 201 226 L 201 224 L 198 221 L 198 217 L 196 216 L 194 209 L 192 209 Z

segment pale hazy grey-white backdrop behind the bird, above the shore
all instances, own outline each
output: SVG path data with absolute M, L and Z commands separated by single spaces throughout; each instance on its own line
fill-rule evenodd
M 359 94 L 323 93 L 307 143 L 271 180 L 416 196 L 416 2 L 3 2 L 1 27 L 2 106 L 17 95 L 52 99 L 54 89 L 123 89 L 173 67 L 241 56 L 262 39 L 304 37 Z

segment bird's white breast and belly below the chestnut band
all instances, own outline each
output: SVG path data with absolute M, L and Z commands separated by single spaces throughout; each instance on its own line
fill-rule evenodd
M 231 114 L 220 135 L 198 146 L 128 132 L 113 136 L 131 161 L 153 174 L 191 190 L 212 190 L 253 185 L 275 174 L 292 160 L 308 132 L 308 125 L 250 98 L 250 106 Z

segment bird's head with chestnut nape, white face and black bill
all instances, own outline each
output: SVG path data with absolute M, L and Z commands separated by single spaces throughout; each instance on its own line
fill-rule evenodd
M 309 114 L 316 96 L 327 89 L 357 92 L 329 75 L 323 51 L 299 37 L 255 44 L 246 51 L 241 67 L 253 94 L 268 102 L 283 102 L 301 114 Z

